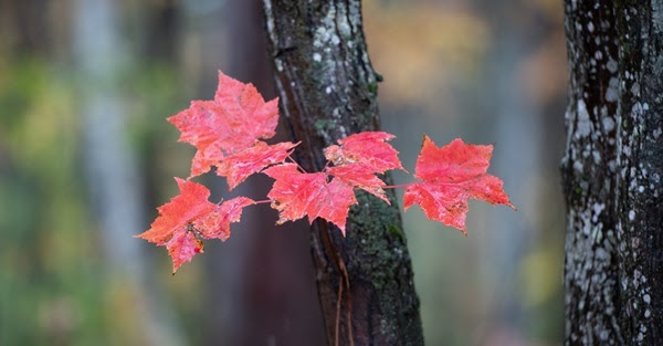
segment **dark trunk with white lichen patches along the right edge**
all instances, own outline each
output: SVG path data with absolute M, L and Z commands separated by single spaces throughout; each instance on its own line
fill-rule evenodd
M 663 2 L 565 12 L 566 345 L 663 345 Z

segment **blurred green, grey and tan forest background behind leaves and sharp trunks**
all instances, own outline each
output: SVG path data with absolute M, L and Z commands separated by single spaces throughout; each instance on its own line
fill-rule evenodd
M 404 213 L 428 345 L 561 344 L 561 1 L 367 0 L 364 17 L 403 165 L 424 133 L 493 143 L 518 207 L 471 202 L 467 239 Z M 218 70 L 274 97 L 257 1 L 0 0 L 0 345 L 322 344 L 305 221 L 250 208 L 175 276 L 131 238 L 188 176 L 165 118 L 211 98 Z

